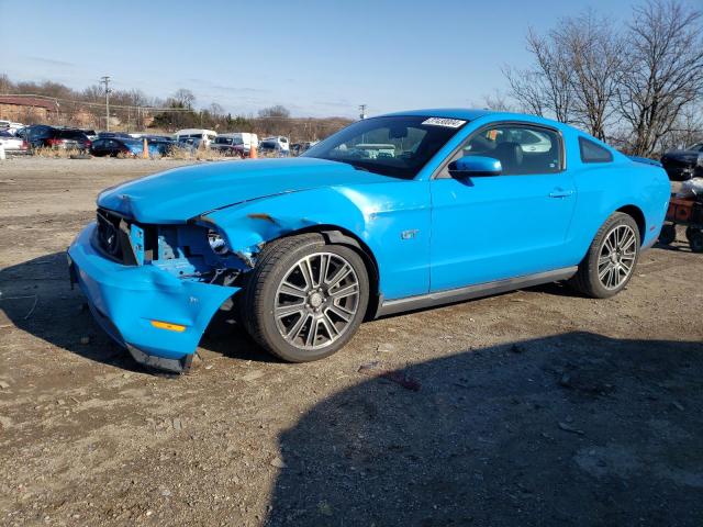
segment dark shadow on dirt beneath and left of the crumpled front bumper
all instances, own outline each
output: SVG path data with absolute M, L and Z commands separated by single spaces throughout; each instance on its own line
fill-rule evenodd
M 0 270 L 0 330 L 3 325 L 13 325 L 81 357 L 125 370 L 145 371 L 93 321 L 79 288 L 71 290 L 65 253 Z M 228 324 L 227 318 L 217 317 L 208 328 L 201 343 L 205 351 L 254 361 L 276 360 L 254 345 L 244 332 Z

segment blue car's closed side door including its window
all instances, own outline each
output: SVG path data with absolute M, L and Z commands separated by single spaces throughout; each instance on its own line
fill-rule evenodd
M 454 178 L 461 156 L 501 161 L 499 176 Z M 471 134 L 431 181 L 431 290 L 568 266 L 562 253 L 577 200 L 556 130 L 495 123 Z

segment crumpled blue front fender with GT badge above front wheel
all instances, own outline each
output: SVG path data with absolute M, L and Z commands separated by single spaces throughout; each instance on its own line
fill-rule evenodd
M 209 212 L 199 221 L 216 227 L 249 267 L 267 243 L 281 236 L 306 231 L 327 233 L 331 242 L 345 236 L 376 266 L 381 293 L 392 298 L 410 289 L 421 294 L 429 280 L 429 193 L 427 182 L 402 183 L 277 194 Z

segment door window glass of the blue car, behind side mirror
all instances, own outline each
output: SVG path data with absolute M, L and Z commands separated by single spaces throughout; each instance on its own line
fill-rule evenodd
M 555 173 L 562 167 L 558 132 L 529 124 L 496 124 L 471 134 L 450 159 L 439 178 L 448 178 L 447 165 L 464 156 L 492 157 L 501 161 L 502 176 Z

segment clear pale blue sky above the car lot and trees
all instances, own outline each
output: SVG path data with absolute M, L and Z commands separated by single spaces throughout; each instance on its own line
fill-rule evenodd
M 691 0 L 698 2 L 701 0 Z M 476 106 L 526 67 L 528 27 L 593 8 L 627 20 L 622 0 L 0 0 L 0 74 L 166 98 L 233 114 L 272 104 L 294 116 L 356 116 Z

